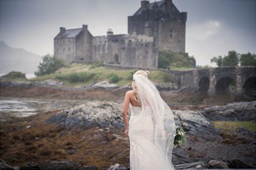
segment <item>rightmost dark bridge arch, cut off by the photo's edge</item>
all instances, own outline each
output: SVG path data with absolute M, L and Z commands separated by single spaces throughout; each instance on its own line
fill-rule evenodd
M 242 85 L 242 96 L 247 99 L 256 100 L 256 77 L 247 78 Z

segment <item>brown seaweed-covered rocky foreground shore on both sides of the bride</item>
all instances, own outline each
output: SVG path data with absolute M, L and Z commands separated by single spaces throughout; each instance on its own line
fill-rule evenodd
M 73 165 L 85 169 L 93 165 L 107 169 L 119 163 L 127 169 L 129 139 L 123 135 L 121 105 L 121 101 L 94 101 L 63 111 L 39 113 L 19 119 L 18 123 L 3 123 L 0 137 L 6 141 L 1 145 L 0 158 L 10 164 L 2 161 L 0 168 Z M 173 149 L 172 162 L 177 169 L 255 167 L 255 133 L 223 133 L 201 111 L 173 110 L 173 114 L 188 139 L 182 148 Z M 83 164 L 76 162 L 83 159 Z M 29 163 L 22 164 L 24 161 Z

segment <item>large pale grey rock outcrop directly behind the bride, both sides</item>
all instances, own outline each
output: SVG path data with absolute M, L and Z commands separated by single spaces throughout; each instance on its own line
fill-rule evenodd
M 45 123 L 57 123 L 68 127 L 123 127 L 123 101 L 93 101 L 63 110 L 52 115 Z M 130 111 L 128 113 L 130 115 Z M 173 110 L 176 125 L 199 138 L 215 140 L 219 130 L 199 112 Z

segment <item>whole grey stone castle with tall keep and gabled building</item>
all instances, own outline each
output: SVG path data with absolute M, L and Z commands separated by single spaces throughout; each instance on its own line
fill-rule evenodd
M 179 12 L 172 0 L 150 3 L 128 17 L 128 34 L 93 36 L 87 25 L 60 28 L 54 38 L 54 55 L 72 62 L 104 62 L 121 67 L 158 67 L 158 52 L 185 52 L 187 12 Z

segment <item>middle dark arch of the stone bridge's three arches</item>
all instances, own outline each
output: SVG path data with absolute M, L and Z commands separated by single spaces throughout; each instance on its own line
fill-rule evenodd
M 222 77 L 220 78 L 216 85 L 215 85 L 215 90 L 216 90 L 216 94 L 220 95 L 220 94 L 230 94 L 231 93 L 231 85 L 236 85 L 236 81 L 234 79 L 232 79 L 231 77 Z

